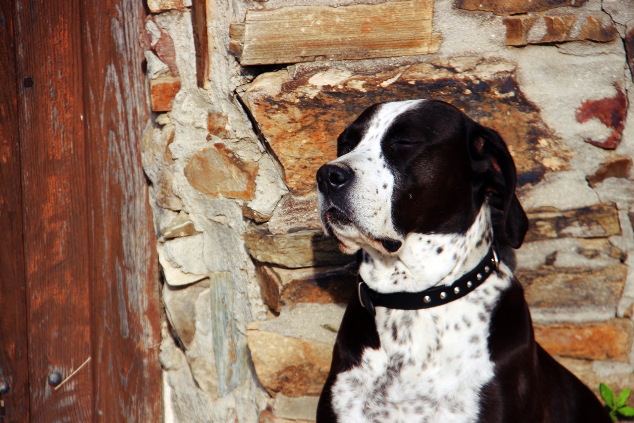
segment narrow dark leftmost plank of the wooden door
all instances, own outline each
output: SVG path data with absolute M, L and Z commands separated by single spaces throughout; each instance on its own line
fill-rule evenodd
M 15 0 L 0 2 L 0 383 L 9 422 L 29 420 L 27 311 L 22 229 L 18 88 L 15 74 Z

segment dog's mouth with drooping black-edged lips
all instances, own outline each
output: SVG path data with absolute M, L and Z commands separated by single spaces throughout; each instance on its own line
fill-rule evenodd
M 332 234 L 339 241 L 339 249 L 346 254 L 352 254 L 363 248 L 370 246 L 375 250 L 384 250 L 392 254 L 401 248 L 401 241 L 392 238 L 375 238 L 365 233 L 349 215 L 343 211 L 331 207 L 323 213 L 323 225 L 325 232 Z

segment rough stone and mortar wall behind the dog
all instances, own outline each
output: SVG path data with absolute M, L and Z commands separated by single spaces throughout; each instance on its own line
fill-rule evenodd
M 165 421 L 314 419 L 354 288 L 353 258 L 320 231 L 314 173 L 359 112 L 407 98 L 450 102 L 506 140 L 531 220 L 511 260 L 538 340 L 595 391 L 633 386 L 634 3 L 426 1 L 427 54 L 240 65 L 235 34 L 255 11 L 354 4 L 391 6 L 195 0 L 202 33 L 187 0 L 148 0 Z

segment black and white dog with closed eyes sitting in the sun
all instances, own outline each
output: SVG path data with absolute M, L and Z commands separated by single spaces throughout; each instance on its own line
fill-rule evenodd
M 359 252 L 318 422 L 610 422 L 534 340 L 493 248 L 527 218 L 498 133 L 437 100 L 373 105 L 317 172 L 325 232 Z M 498 229 L 499 227 L 499 229 Z

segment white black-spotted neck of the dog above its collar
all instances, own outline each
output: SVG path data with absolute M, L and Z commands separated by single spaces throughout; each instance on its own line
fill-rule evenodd
M 492 231 L 489 206 L 484 204 L 464 234 L 411 233 L 393 255 L 365 248 L 359 275 L 370 288 L 383 293 L 451 285 L 486 255 Z

